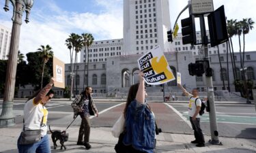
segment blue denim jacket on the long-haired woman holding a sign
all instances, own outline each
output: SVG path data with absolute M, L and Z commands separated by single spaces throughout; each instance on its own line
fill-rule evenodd
M 135 149 L 153 153 L 155 147 L 155 120 L 147 104 L 132 101 L 126 112 L 126 135 L 123 143 Z

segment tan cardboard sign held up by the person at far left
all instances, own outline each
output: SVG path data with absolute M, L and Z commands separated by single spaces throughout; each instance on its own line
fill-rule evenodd
M 65 63 L 53 56 L 53 77 L 55 78 L 54 86 L 65 88 Z

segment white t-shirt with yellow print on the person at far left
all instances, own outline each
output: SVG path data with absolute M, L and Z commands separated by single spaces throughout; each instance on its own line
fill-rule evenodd
M 34 99 L 27 101 L 24 107 L 24 120 L 25 120 L 25 130 L 38 130 L 41 129 L 41 136 L 44 137 L 47 133 L 47 117 L 48 111 L 42 103 L 35 105 L 33 103 Z M 43 122 L 42 117 L 44 116 Z M 42 125 L 41 125 L 42 122 Z

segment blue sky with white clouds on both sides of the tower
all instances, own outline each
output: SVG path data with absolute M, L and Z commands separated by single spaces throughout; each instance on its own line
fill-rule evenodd
M 156 0 L 159 1 L 159 0 Z M 256 1 L 251 0 L 213 0 L 214 10 L 225 6 L 227 19 L 242 20 L 252 18 L 256 21 Z M 247 3 L 242 3 L 247 2 Z M 0 24 L 12 29 L 12 5 L 10 11 L 3 10 L 5 1 L 0 1 Z M 171 27 L 177 15 L 187 5 L 185 0 L 169 0 Z M 185 11 L 180 19 L 187 18 Z M 29 23 L 20 30 L 19 50 L 23 54 L 36 52 L 41 45 L 53 48 L 57 58 L 70 63 L 70 54 L 65 40 L 70 33 L 91 33 L 96 41 L 119 39 L 123 37 L 123 0 L 35 0 L 29 16 Z M 178 20 L 180 25 L 180 20 Z M 180 26 L 181 27 L 181 26 Z M 246 35 L 246 51 L 255 51 L 256 24 Z M 181 28 L 179 32 L 181 31 Z M 235 51 L 239 51 L 238 37 L 233 37 Z M 80 58 L 79 58 L 80 59 Z

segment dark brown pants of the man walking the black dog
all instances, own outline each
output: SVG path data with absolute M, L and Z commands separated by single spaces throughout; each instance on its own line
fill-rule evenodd
M 79 129 L 79 139 L 78 141 L 81 142 L 84 140 L 84 143 L 89 142 L 89 136 L 90 136 L 90 122 L 89 122 L 89 116 L 81 116 L 81 125 Z

